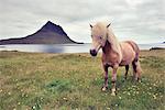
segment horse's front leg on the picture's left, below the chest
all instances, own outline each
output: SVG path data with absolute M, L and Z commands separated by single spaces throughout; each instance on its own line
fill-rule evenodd
M 102 87 L 102 91 L 106 91 L 108 89 L 108 66 L 103 65 L 103 70 L 105 70 L 105 84 Z

